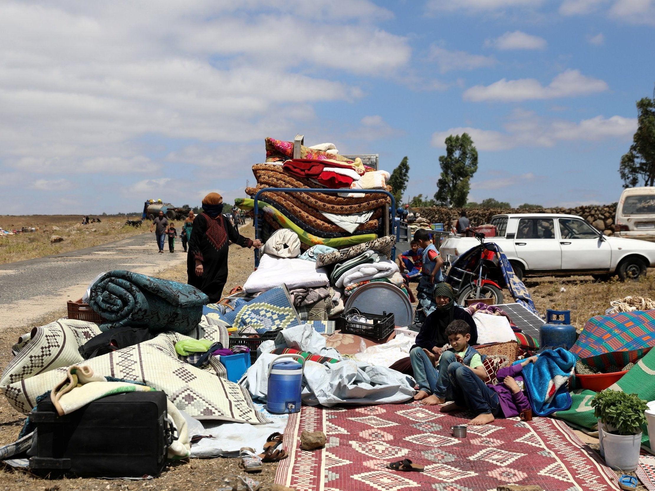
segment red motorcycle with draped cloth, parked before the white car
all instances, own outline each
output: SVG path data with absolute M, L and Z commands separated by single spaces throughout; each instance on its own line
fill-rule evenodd
M 474 299 L 492 299 L 493 304 L 502 304 L 502 289 L 507 284 L 498 247 L 493 242 L 485 244 L 485 234 L 473 232 L 473 236 L 480 245 L 458 257 L 445 281 L 453 287 L 455 299 L 461 306 L 466 306 L 466 300 Z

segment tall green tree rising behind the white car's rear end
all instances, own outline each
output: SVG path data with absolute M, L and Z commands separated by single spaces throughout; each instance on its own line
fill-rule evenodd
M 466 204 L 469 181 L 477 171 L 477 150 L 468 133 L 445 139 L 446 155 L 439 157 L 441 177 L 434 200 L 446 206 L 461 208 Z

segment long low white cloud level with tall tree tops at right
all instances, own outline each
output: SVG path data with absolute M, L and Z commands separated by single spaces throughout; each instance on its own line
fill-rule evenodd
M 480 128 L 450 128 L 432 134 L 432 146 L 443 148 L 450 135 L 468 133 L 476 148 L 482 151 L 509 150 L 517 147 L 553 147 L 560 141 L 604 141 L 617 138 L 631 139 L 637 130 L 636 118 L 597 116 L 580 122 L 544 120 L 533 113 L 515 111 L 503 125 L 504 131 Z

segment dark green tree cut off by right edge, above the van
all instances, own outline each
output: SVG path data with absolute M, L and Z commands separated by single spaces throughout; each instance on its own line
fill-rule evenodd
M 623 187 L 637 186 L 640 178 L 645 186 L 655 184 L 655 98 L 637 101 L 637 115 L 637 132 L 618 168 Z

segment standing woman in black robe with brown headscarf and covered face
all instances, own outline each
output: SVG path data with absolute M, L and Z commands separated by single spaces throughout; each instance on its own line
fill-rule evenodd
M 227 282 L 229 242 L 241 247 L 262 245 L 258 239 L 239 235 L 222 211 L 223 198 L 217 192 L 210 192 L 202 199 L 202 213 L 193 221 L 187 255 L 189 285 L 206 293 L 212 302 L 221 299 Z

